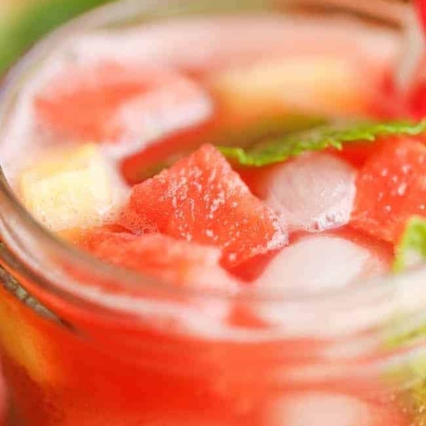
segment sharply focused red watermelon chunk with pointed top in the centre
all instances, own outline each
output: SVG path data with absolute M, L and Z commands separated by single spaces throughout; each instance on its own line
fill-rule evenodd
M 288 241 L 283 220 L 251 194 L 211 145 L 133 187 L 127 209 L 163 234 L 219 247 L 226 268 Z

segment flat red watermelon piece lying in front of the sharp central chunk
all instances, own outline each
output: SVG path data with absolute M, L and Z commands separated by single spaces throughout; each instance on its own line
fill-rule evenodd
M 231 289 L 236 284 L 219 266 L 219 249 L 163 234 L 136 236 L 94 229 L 80 239 L 80 246 L 104 261 L 175 285 Z

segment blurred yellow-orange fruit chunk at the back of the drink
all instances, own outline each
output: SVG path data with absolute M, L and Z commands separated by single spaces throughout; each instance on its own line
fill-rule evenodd
M 240 119 L 295 111 L 327 116 L 365 112 L 368 79 L 349 60 L 286 58 L 225 70 L 209 82 L 226 111 Z

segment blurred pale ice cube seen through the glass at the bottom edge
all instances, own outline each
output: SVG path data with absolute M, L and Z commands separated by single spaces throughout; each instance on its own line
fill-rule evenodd
M 279 398 L 265 415 L 267 426 L 370 426 L 376 417 L 354 396 L 320 391 Z

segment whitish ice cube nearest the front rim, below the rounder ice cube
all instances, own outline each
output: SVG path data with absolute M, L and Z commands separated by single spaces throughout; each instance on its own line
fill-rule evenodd
M 315 293 L 373 278 L 387 268 L 386 260 L 366 246 L 340 236 L 307 236 L 280 251 L 258 285 Z

